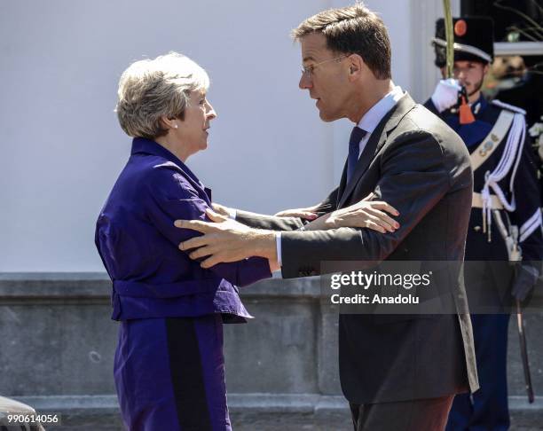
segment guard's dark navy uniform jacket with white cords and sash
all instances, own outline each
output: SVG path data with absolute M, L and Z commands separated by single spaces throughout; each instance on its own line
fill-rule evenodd
M 437 114 L 431 99 L 425 106 Z M 475 296 L 488 298 L 494 292 L 494 299 L 501 298 L 500 303 L 507 306 L 511 298 L 509 289 L 513 273 L 508 271 L 507 262 L 510 259 L 508 245 L 500 233 L 496 216 L 500 216 L 508 231 L 511 225 L 515 226 L 523 261 L 533 261 L 533 264 L 539 267 L 537 262 L 543 258 L 543 236 L 537 165 L 531 151 L 528 134 L 522 130 L 524 122 L 522 110 L 500 102 L 488 102 L 481 96 L 472 105 L 472 111 L 476 121 L 470 124 L 460 124 L 459 115 L 451 111 L 445 111 L 440 116 L 464 140 L 472 158 L 476 153 L 484 154 L 494 149 L 492 154 L 474 170 L 474 192 L 483 193 L 489 176 L 501 166 L 502 178 L 494 182 L 493 187 L 487 185 L 487 190 L 493 200 L 500 201 L 502 208 L 497 208 L 496 214 L 490 217 L 485 216 L 483 208 L 478 208 L 476 205 L 472 208 L 466 260 L 477 263 L 467 263 L 467 270 L 470 272 L 467 272 L 466 283 L 468 294 L 473 294 L 474 298 Z M 492 128 L 503 111 L 517 118 L 515 118 L 516 123 L 511 124 L 502 137 L 498 137 L 494 133 L 495 129 Z M 515 139 L 511 136 L 514 132 L 518 136 L 516 145 L 513 145 Z M 509 148 L 508 140 L 511 140 Z M 473 286 L 469 288 L 469 285 Z M 491 304 L 480 300 L 471 301 L 470 297 L 472 312 L 490 311 L 485 306 Z

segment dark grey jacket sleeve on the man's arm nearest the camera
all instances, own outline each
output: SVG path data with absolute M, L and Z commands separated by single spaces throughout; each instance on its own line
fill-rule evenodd
M 397 208 L 400 228 L 382 234 L 369 229 L 292 231 L 282 234 L 284 278 L 320 274 L 323 261 L 386 259 L 450 189 L 450 173 L 437 139 L 413 130 L 397 137 L 381 156 L 375 187 L 381 200 Z

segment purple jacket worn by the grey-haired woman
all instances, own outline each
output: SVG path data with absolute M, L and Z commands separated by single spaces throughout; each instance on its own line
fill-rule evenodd
M 98 253 L 113 281 L 114 320 L 212 313 L 231 321 L 251 317 L 235 285 L 269 278 L 266 259 L 206 270 L 177 247 L 201 234 L 177 229 L 174 220 L 207 220 L 210 207 L 209 189 L 185 163 L 151 140 L 134 138 L 96 227 Z

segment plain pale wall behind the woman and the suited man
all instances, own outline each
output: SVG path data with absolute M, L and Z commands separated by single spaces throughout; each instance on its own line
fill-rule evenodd
M 425 37 L 413 33 L 420 3 L 366 2 L 390 28 L 395 81 L 419 99 L 427 96 L 413 63 L 413 38 Z M 214 200 L 264 213 L 321 200 L 339 179 L 351 125 L 319 121 L 297 89 L 300 54 L 289 31 L 346 4 L 0 2 L 0 271 L 103 270 L 94 223 L 130 153 L 114 114 L 116 85 L 131 61 L 170 50 L 211 76 L 218 118 L 209 149 L 188 164 Z

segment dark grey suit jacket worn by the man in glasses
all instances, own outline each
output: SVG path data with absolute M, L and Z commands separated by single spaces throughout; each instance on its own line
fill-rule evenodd
M 461 262 L 473 175 L 466 146 L 445 122 L 405 94 L 382 119 L 346 182 L 319 206 L 344 208 L 375 192 L 397 208 L 401 227 L 299 231 L 299 219 L 245 217 L 241 223 L 283 231 L 284 278 L 318 275 L 325 261 Z M 351 403 L 447 396 L 478 388 L 468 302 L 460 274 L 444 286 L 456 315 L 340 315 L 340 378 Z

